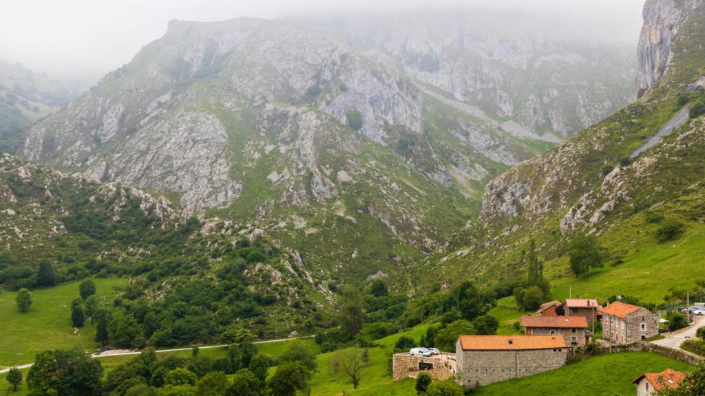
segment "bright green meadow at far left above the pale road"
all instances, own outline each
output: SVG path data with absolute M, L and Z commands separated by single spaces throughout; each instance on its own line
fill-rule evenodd
M 95 279 L 97 297 L 102 303 L 115 295 L 115 287 L 127 283 L 123 278 Z M 16 292 L 0 292 L 0 366 L 27 364 L 45 349 L 96 347 L 93 326 L 78 333 L 71 328 L 71 300 L 78 297 L 80 282 L 32 291 L 32 307 L 21 314 L 15 302 Z

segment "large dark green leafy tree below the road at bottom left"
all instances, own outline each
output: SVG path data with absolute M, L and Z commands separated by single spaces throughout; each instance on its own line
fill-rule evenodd
M 30 395 L 99 396 L 102 377 L 98 359 L 78 349 L 56 349 L 37 354 L 27 373 L 27 385 Z

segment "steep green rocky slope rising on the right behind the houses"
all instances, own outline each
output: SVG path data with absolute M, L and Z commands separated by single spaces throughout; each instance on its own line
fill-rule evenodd
M 658 76 L 658 83 L 635 104 L 490 182 L 481 221 L 434 258 L 441 280 L 468 272 L 491 283 L 521 278 L 520 254 L 533 238 L 557 297 L 573 285 L 574 293 L 658 302 L 671 287 L 694 287 L 691 264 L 705 257 L 705 125 L 701 115 L 687 113 L 705 102 L 694 84 L 705 65 L 705 6 L 650 0 L 644 16 L 645 31 L 654 23 L 669 29 L 660 33 L 669 39 L 647 35 L 639 45 L 642 59 L 668 54 L 661 66 L 642 64 L 639 81 Z M 663 137 L 649 142 L 656 136 Z M 656 237 L 663 218 L 682 224 L 675 242 Z M 568 242 L 584 233 L 598 235 L 608 250 L 599 280 L 576 280 L 568 270 Z M 668 275 L 647 275 L 656 271 Z

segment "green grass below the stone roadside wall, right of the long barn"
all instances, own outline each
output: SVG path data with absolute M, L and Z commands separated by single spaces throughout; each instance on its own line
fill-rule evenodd
M 648 352 L 621 352 L 593 357 L 558 370 L 479 388 L 474 395 L 634 395 L 632 380 L 665 369 L 692 371 L 689 364 Z

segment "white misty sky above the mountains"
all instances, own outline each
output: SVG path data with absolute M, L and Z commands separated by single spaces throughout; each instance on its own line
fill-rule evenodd
M 168 20 L 282 19 L 479 8 L 558 18 L 635 46 L 644 0 L 2 0 L 0 58 L 61 80 L 95 82 L 166 32 Z

